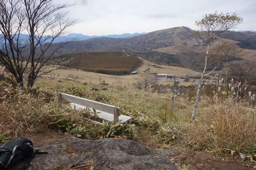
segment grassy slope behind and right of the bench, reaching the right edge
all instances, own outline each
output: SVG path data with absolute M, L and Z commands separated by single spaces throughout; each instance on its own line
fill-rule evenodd
M 136 124 L 137 129 L 135 134 L 139 142 L 153 150 L 175 146 L 188 150 L 203 150 L 207 152 L 206 157 L 212 158 L 209 154 L 217 154 L 234 159 L 238 151 L 248 155 L 248 149 L 256 147 L 254 141 L 256 129 L 251 126 L 255 123 L 256 110 L 248 108 L 243 103 L 213 102 L 211 98 L 203 97 L 198 105 L 197 118 L 191 121 L 191 111 L 195 101 L 175 95 L 174 111 L 170 111 L 171 93 L 157 94 L 140 91 L 128 84 L 82 85 L 81 82 L 70 80 L 57 83 L 55 79 L 39 79 L 36 85 L 52 90 L 78 86 L 80 90 L 83 89 L 81 93 L 76 92 L 76 88 L 73 88 L 71 93 L 90 94 L 89 98 L 104 96 L 99 99 L 119 106 L 122 114 L 133 117 L 133 123 Z M 99 91 L 90 92 L 91 88 L 97 88 Z M 102 90 L 103 88 L 107 90 Z M 232 150 L 236 151 L 233 156 L 231 156 Z M 192 154 L 198 154 L 197 151 L 192 151 Z M 195 164 L 191 164 L 190 168 L 197 169 Z

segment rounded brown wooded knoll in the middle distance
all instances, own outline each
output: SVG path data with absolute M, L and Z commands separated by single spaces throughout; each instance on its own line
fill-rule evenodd
M 118 75 L 129 74 L 142 64 L 137 56 L 126 55 L 122 51 L 64 54 L 61 59 L 59 63 L 71 65 L 71 68 Z

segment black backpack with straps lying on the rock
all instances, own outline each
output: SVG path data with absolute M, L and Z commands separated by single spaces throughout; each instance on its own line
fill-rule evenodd
M 15 138 L 6 142 L 0 145 L 0 170 L 17 163 L 23 158 L 28 158 L 26 164 L 20 168 L 20 170 L 26 170 L 35 154 L 47 153 L 39 153 L 38 150 L 34 152 L 33 143 L 26 138 Z

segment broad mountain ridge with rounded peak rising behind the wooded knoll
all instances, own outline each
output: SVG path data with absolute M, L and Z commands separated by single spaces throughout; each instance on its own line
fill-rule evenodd
M 58 54 L 82 51 L 125 51 L 157 64 L 180 65 L 201 70 L 206 45 L 191 36 L 188 27 L 175 27 L 125 38 L 94 38 L 64 45 Z M 256 60 L 256 33 L 227 31 L 221 39 L 229 39 L 244 48 L 244 58 Z M 55 43 L 55 47 L 61 43 Z M 193 64 L 198 63 L 198 64 Z

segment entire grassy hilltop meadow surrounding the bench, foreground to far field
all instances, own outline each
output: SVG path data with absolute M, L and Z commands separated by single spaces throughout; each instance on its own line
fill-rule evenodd
M 137 89 L 137 81 L 146 71 L 177 76 L 199 73 L 173 66 L 152 67 L 146 60 L 143 63 L 136 75 L 114 76 L 71 69 L 55 70 L 39 77 L 33 88 L 23 90 L 8 80 L 0 82 L 0 142 L 15 136 L 30 137 L 35 145 L 64 135 L 90 140 L 118 137 L 140 142 L 152 150 L 174 148 L 176 154 L 169 159 L 182 170 L 246 170 L 255 166 L 255 95 L 238 101 L 230 95 L 232 87 L 205 85 L 197 117 L 192 121 L 196 89 L 192 82 L 175 85 L 171 110 L 173 82 L 158 81 L 144 91 Z M 88 114 L 74 111 L 67 102 L 58 108 L 60 91 L 118 106 L 132 121 L 125 125 L 87 122 L 81 117 Z M 239 152 L 247 156 L 245 161 L 239 159 Z

